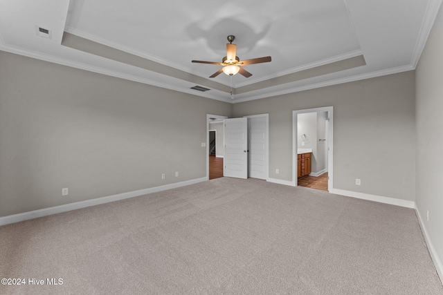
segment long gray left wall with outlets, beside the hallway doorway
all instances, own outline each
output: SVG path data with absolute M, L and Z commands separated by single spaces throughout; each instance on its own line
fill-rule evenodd
M 204 178 L 206 114 L 231 112 L 0 51 L 0 216 Z

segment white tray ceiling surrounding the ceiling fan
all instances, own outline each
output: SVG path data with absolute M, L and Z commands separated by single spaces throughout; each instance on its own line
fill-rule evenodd
M 243 102 L 413 70 L 441 2 L 2 0 L 0 50 L 226 102 Z M 51 30 L 52 39 L 39 37 L 36 26 Z M 64 32 L 192 75 L 185 79 L 63 46 Z M 221 61 L 228 35 L 235 35 L 240 59 L 271 55 L 272 61 L 246 66 L 253 74 L 249 78 L 237 74 L 231 82 L 221 74 L 209 79 L 219 66 L 190 61 Z M 288 81 L 292 73 L 359 55 L 364 57 L 364 66 Z M 286 79 L 275 83 L 275 77 Z M 211 87 L 210 80 L 222 87 Z M 191 90 L 196 84 L 211 90 Z M 226 91 L 231 85 L 249 90 L 238 91 L 231 100 Z

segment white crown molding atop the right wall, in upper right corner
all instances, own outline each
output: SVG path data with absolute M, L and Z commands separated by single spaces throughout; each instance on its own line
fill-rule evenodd
M 426 6 L 426 12 L 424 12 L 424 18 L 422 21 L 422 26 L 417 37 L 417 42 L 415 43 L 413 56 L 410 60 L 410 65 L 415 69 L 417 67 L 418 61 L 424 46 L 426 46 L 426 41 L 428 40 L 429 34 L 431 33 L 435 17 L 437 17 L 438 10 L 442 5 L 442 0 L 429 0 Z

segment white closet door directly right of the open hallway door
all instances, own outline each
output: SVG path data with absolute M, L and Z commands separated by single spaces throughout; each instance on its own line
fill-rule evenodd
M 267 115 L 248 116 L 248 175 L 251 178 L 268 178 L 267 129 Z

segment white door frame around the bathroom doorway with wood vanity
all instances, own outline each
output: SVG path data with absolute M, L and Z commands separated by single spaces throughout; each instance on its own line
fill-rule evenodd
M 322 108 L 307 108 L 305 110 L 292 111 L 292 183 L 294 187 L 298 186 L 298 162 L 297 162 L 297 149 L 298 149 L 298 134 L 297 134 L 297 115 L 303 113 L 320 113 L 328 112 L 329 122 L 327 122 L 327 189 L 331 191 L 334 189 L 334 107 L 325 106 Z

